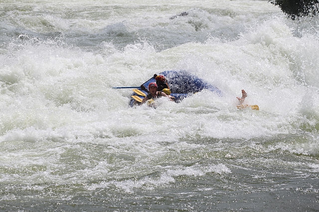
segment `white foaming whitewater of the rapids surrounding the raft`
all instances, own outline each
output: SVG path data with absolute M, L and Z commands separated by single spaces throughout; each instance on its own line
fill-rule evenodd
M 224 164 L 184 166 L 174 160 L 202 159 L 216 140 L 227 145 L 229 139 L 309 133 L 306 141 L 278 140 L 271 148 L 318 155 L 316 26 L 298 37 L 266 1 L 161 1 L 160 8 L 168 5 L 162 9 L 143 1 L 143 10 L 141 1 L 116 0 L 114 11 L 100 2 L 59 2 L 46 4 L 47 13 L 59 14 L 37 16 L 42 10 L 32 1 L 34 11 L 9 12 L 16 16 L 1 23 L 14 37 L 0 50 L 0 163 L 17 173 L 2 175 L 1 182 L 14 176 L 16 182 L 63 184 L 92 177 L 98 182 L 90 190 L 115 186 L 133 192 L 180 176 L 227 175 L 231 169 Z M 86 7 L 91 4 L 96 5 Z M 68 8 L 71 16 L 64 17 Z M 169 19 L 182 11 L 189 16 Z M 14 27 L 8 24 L 12 18 Z M 113 40 L 106 38 L 110 33 Z M 188 71 L 218 87 L 223 97 L 202 91 L 179 104 L 160 100 L 157 109 L 131 108 L 132 90 L 112 89 L 140 86 L 165 70 Z M 246 103 L 259 105 L 259 111 L 236 108 L 241 89 Z M 115 165 L 112 158 L 96 158 L 101 148 L 115 155 Z M 162 165 L 166 162 L 172 167 Z M 162 166 L 158 173 L 155 166 Z M 29 167 L 34 170 L 26 173 Z

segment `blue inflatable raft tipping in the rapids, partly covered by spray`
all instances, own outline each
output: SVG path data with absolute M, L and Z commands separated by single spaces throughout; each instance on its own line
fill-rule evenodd
M 221 91 L 198 77 L 191 75 L 184 71 L 164 71 L 161 72 L 159 75 L 163 75 L 167 80 L 169 89 L 170 89 L 170 96 L 174 97 L 176 102 L 180 102 L 182 99 L 187 97 L 190 94 L 194 94 L 196 92 L 200 92 L 204 89 L 214 92 L 218 96 L 222 96 Z M 140 88 L 137 88 L 139 91 L 143 92 L 145 95 L 148 95 L 147 88 L 149 84 L 152 82 L 156 82 L 155 76 L 146 81 L 144 84 L 141 85 Z M 142 95 L 134 92 L 132 94 L 130 100 L 130 106 L 136 106 L 140 103 L 136 101 L 136 99 L 143 99 Z

